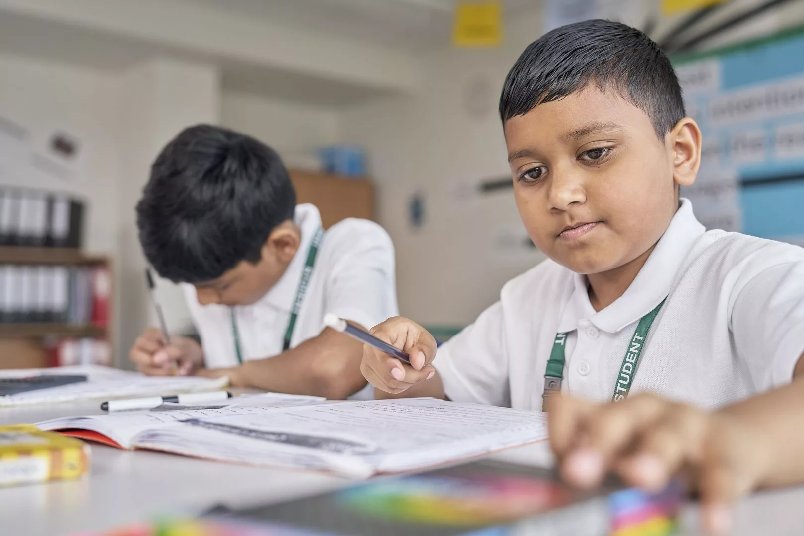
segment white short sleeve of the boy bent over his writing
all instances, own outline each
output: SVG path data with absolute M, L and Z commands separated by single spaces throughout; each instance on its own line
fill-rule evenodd
M 337 260 L 326 281 L 325 311 L 366 329 L 399 314 L 396 305 L 394 249 L 382 227 L 347 220 L 327 234 Z

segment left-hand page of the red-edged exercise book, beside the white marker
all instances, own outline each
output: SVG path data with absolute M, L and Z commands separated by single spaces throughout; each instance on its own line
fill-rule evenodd
M 123 448 L 132 448 L 132 438 L 138 433 L 170 426 L 187 419 L 215 419 L 233 415 L 248 415 L 285 407 L 306 406 L 325 401 L 318 396 L 265 393 L 258 396 L 234 397 L 228 401 L 203 407 L 183 407 L 166 403 L 150 411 L 121 411 L 108 415 L 65 417 L 37 423 L 41 430 L 77 428 L 103 434 Z

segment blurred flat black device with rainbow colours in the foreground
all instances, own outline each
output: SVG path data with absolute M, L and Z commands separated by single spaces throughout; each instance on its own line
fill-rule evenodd
M 675 533 L 682 497 L 677 482 L 655 494 L 616 481 L 579 492 L 551 469 L 478 460 L 277 505 L 219 507 L 207 515 L 282 536 L 665 536 Z

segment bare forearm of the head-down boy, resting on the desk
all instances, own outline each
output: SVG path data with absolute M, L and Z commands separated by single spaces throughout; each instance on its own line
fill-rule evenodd
M 325 329 L 273 358 L 244 362 L 229 370 L 235 387 L 345 399 L 366 385 L 360 374 L 363 345 Z

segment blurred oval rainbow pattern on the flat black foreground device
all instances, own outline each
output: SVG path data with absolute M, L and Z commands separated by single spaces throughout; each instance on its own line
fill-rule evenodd
M 408 477 L 344 491 L 351 509 L 374 517 L 428 525 L 511 522 L 558 508 L 567 493 L 550 481 L 508 476 Z

